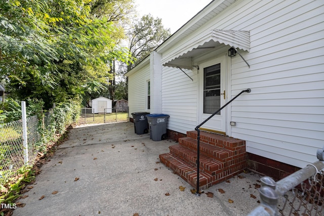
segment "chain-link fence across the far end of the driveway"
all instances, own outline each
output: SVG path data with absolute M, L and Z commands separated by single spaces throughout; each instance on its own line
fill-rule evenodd
M 128 107 L 105 108 L 103 113 L 94 113 L 93 108 L 81 108 L 78 124 L 128 121 L 128 117 Z

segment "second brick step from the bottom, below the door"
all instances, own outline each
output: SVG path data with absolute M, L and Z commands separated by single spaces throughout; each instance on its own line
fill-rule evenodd
M 190 165 L 197 167 L 197 152 L 188 149 L 181 145 L 170 146 L 170 153 L 189 163 Z M 215 159 L 200 154 L 200 170 L 205 171 L 207 174 L 215 176 L 220 173 L 224 167 L 224 163 Z

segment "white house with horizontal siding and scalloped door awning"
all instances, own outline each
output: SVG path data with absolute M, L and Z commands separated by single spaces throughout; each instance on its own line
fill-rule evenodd
M 323 12 L 324 1 L 212 1 L 127 73 L 129 112 L 168 114 L 168 129 L 186 134 L 251 89 L 201 127 L 246 141 L 252 169 L 316 161 L 324 146 Z

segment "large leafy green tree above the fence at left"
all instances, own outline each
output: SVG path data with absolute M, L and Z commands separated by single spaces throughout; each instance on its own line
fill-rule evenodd
M 0 2 L 0 76 L 16 98 L 65 102 L 104 89 L 109 62 L 132 61 L 109 19 L 91 14 L 91 0 Z M 118 2 L 118 1 L 110 1 Z

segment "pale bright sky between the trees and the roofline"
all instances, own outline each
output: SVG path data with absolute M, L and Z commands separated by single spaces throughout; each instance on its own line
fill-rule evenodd
M 212 0 L 134 0 L 134 2 L 140 17 L 151 14 L 154 18 L 162 19 L 164 27 L 170 28 L 173 34 Z

